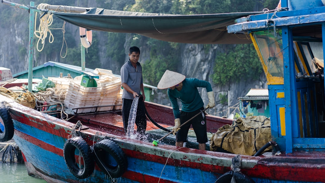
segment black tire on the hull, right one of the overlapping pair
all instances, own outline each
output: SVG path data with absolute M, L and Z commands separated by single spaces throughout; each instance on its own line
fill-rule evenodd
M 127 169 L 127 159 L 122 148 L 111 139 L 103 139 L 94 144 L 95 161 L 108 176 L 118 178 Z

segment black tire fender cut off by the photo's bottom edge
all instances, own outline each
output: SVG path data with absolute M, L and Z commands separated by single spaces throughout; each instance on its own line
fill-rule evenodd
M 236 182 L 240 183 L 255 183 L 251 178 L 248 176 L 240 173 L 240 172 L 234 172 L 229 171 L 223 175 L 221 175 L 214 183 L 230 183 L 232 177 L 234 176 Z

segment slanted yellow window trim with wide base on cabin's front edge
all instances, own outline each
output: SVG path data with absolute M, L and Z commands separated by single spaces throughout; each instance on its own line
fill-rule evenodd
M 266 75 L 266 80 L 267 80 L 267 85 L 283 85 L 284 84 L 284 79 L 283 77 L 276 77 L 276 76 L 272 76 L 270 73 L 267 72 L 267 66 L 265 65 L 264 59 L 262 57 L 262 53 L 260 51 L 260 49 L 258 48 L 257 42 L 253 36 L 253 33 L 249 34 L 252 42 L 253 42 L 253 46 L 256 50 L 257 56 L 260 59 L 260 62 L 262 64 L 263 67 L 263 71 Z

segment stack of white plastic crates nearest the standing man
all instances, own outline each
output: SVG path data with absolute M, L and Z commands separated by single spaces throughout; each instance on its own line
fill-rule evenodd
M 98 107 L 97 111 L 113 110 L 117 95 L 121 90 L 121 78 L 118 78 L 112 74 L 105 74 L 99 76 L 97 84 L 102 87 L 98 106 L 111 105 L 107 107 Z

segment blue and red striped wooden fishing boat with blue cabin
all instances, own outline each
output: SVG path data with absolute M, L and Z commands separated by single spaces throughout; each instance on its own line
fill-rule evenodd
M 116 27 L 109 27 L 111 31 L 129 31 L 161 40 L 175 33 L 175 41 L 184 43 L 190 43 L 191 37 L 188 35 L 196 33 L 207 33 L 210 39 L 203 36 L 191 43 L 207 43 L 208 40 L 217 43 L 208 33 L 217 33 L 221 29 L 217 29 L 218 23 L 211 23 L 210 27 L 199 27 L 201 30 L 193 28 L 187 32 L 182 32 L 184 25 L 181 25 L 173 32 L 171 27 L 174 24 L 167 17 L 172 18 L 175 25 L 179 23 L 178 20 L 191 19 L 193 24 L 200 24 L 223 19 L 218 25 L 227 25 L 228 33 L 231 33 L 229 35 L 249 33 L 268 81 L 272 135 L 269 146 L 274 146 L 276 153 L 243 155 L 221 150 L 198 150 L 198 144 L 190 137 L 186 147 L 178 148 L 175 147 L 175 136 L 172 135 L 159 141 L 158 146 L 153 146 L 153 140 L 168 132 L 148 121 L 147 140 L 125 137 L 119 111 L 82 113 L 69 116 L 69 120 L 62 120 L 0 96 L 3 101 L 0 114 L 5 123 L 5 132 L 14 133 L 13 138 L 24 153 L 29 169 L 51 183 L 230 182 L 232 178 L 236 182 L 255 183 L 325 182 L 325 139 L 321 133 L 324 129 L 321 115 L 324 110 L 323 66 L 314 59 L 316 52 L 311 46 L 312 43 L 322 46 L 324 42 L 325 7 L 320 5 L 320 0 L 318 3 L 311 2 L 282 0 L 281 7 L 289 7 L 289 10 L 279 8 L 264 14 L 161 15 L 157 16 L 157 21 L 153 21 L 149 14 L 135 19 L 136 16 L 130 15 L 130 12 L 125 12 L 128 15 L 123 16 L 53 12 L 63 20 L 92 30 L 103 31 L 103 28 L 87 25 L 83 17 L 89 16 L 94 19 L 92 22 L 100 22 L 103 17 L 107 22 L 119 20 Z M 225 17 L 228 23 L 225 23 Z M 138 23 L 148 19 L 156 22 L 156 27 L 151 29 L 150 25 L 141 24 L 142 28 L 148 28 L 148 32 L 127 30 L 121 23 L 128 20 Z M 231 21 L 234 19 L 237 19 L 236 24 Z M 157 26 L 163 25 L 166 20 L 171 27 L 164 30 L 163 26 Z M 187 23 L 190 26 L 190 22 Z M 169 32 L 162 35 L 157 31 Z M 235 37 L 229 39 L 236 42 Z M 322 47 L 318 55 L 323 55 L 325 46 Z M 316 72 L 313 69 L 314 62 L 310 64 L 310 58 L 318 63 Z M 307 77 L 300 76 L 304 74 Z M 149 114 L 154 114 L 151 118 L 160 126 L 173 126 L 171 108 L 146 102 L 146 109 Z M 218 132 L 213 129 L 232 123 L 229 119 L 208 116 L 208 132 L 216 134 Z M 10 138 L 10 135 L 6 135 L 6 138 Z

